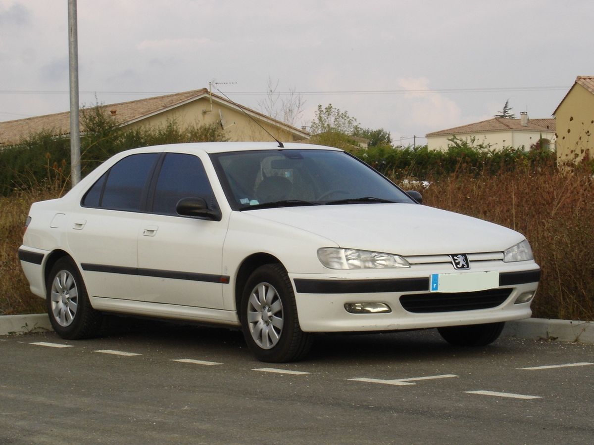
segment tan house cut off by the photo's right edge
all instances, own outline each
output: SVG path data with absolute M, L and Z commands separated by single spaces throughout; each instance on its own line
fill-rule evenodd
M 594 157 L 594 76 L 578 76 L 553 112 L 557 126 L 557 161 Z

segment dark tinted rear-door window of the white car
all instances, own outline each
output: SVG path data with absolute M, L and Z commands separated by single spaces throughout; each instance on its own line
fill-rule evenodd
M 82 204 L 112 210 L 139 211 L 144 187 L 158 156 L 158 153 L 141 153 L 125 157 L 91 186 Z

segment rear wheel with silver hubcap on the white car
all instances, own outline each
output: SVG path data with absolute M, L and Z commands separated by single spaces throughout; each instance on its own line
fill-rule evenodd
M 81 339 L 96 335 L 102 314 L 91 306 L 83 278 L 70 258 L 60 258 L 53 265 L 46 292 L 49 320 L 59 336 Z

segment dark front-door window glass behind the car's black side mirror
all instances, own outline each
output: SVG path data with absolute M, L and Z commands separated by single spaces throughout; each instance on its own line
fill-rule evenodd
M 157 180 L 153 212 L 177 215 L 178 201 L 189 197 L 204 198 L 209 205 L 213 202 L 213 190 L 202 161 L 191 154 L 168 153 Z

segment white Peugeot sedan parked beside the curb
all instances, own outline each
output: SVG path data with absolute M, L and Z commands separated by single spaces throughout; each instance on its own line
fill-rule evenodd
M 478 346 L 529 317 L 525 237 L 418 201 L 330 147 L 138 148 L 33 204 L 18 254 L 68 339 L 124 313 L 241 328 L 283 362 L 315 332 L 438 328 Z

